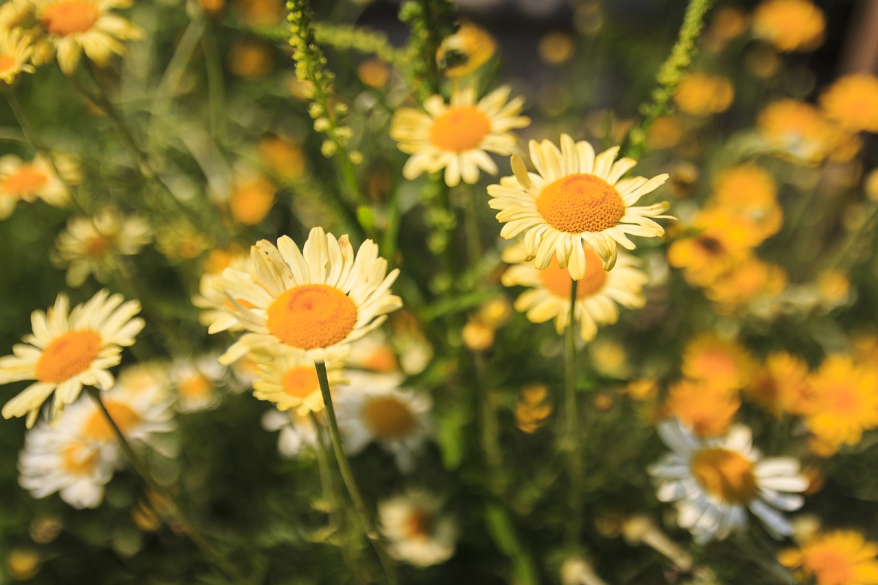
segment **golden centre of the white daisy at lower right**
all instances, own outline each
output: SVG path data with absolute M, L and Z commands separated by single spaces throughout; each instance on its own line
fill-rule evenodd
M 740 453 L 719 447 L 702 449 L 689 466 L 702 488 L 723 502 L 745 504 L 756 495 L 753 464 Z

